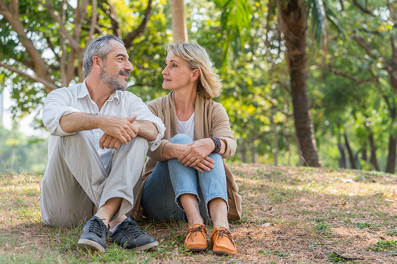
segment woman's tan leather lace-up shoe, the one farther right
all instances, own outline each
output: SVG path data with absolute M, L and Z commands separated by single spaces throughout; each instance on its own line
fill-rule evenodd
M 237 252 L 230 230 L 226 227 L 215 227 L 211 234 L 212 252 L 221 255 L 234 255 Z

